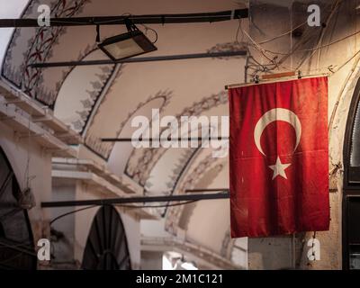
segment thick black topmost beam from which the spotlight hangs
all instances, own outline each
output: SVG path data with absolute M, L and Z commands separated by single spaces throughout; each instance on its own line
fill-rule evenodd
M 197 14 L 148 14 L 121 16 L 94 16 L 51 18 L 51 26 L 89 26 L 89 25 L 124 25 L 125 19 L 134 24 L 169 24 L 169 23 L 212 23 L 231 19 L 247 18 L 248 9 L 236 9 L 214 13 Z M 38 19 L 0 19 L 0 28 L 38 27 Z

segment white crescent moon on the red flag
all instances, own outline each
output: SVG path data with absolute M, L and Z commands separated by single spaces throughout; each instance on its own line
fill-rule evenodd
M 296 132 L 296 144 L 293 150 L 295 151 L 300 143 L 300 139 L 302 138 L 302 123 L 299 120 L 299 117 L 292 111 L 284 108 L 275 108 L 266 112 L 259 121 L 257 121 L 257 125 L 254 130 L 254 139 L 255 144 L 257 145 L 257 149 L 266 156 L 261 148 L 260 138 L 263 134 L 263 131 L 266 129 L 266 126 L 274 121 L 285 121 L 293 126 L 293 129 Z

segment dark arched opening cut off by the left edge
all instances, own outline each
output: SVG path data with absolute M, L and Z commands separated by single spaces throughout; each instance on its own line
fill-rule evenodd
M 31 226 L 19 205 L 21 189 L 0 148 L 0 269 L 36 269 Z

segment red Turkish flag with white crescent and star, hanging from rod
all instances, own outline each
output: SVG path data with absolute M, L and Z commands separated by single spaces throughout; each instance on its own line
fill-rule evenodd
M 229 89 L 231 236 L 329 229 L 328 78 Z

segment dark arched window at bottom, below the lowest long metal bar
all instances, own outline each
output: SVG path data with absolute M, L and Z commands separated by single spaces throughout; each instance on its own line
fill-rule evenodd
M 87 238 L 82 268 L 85 270 L 130 270 L 125 229 L 118 211 L 105 205 L 97 211 Z

